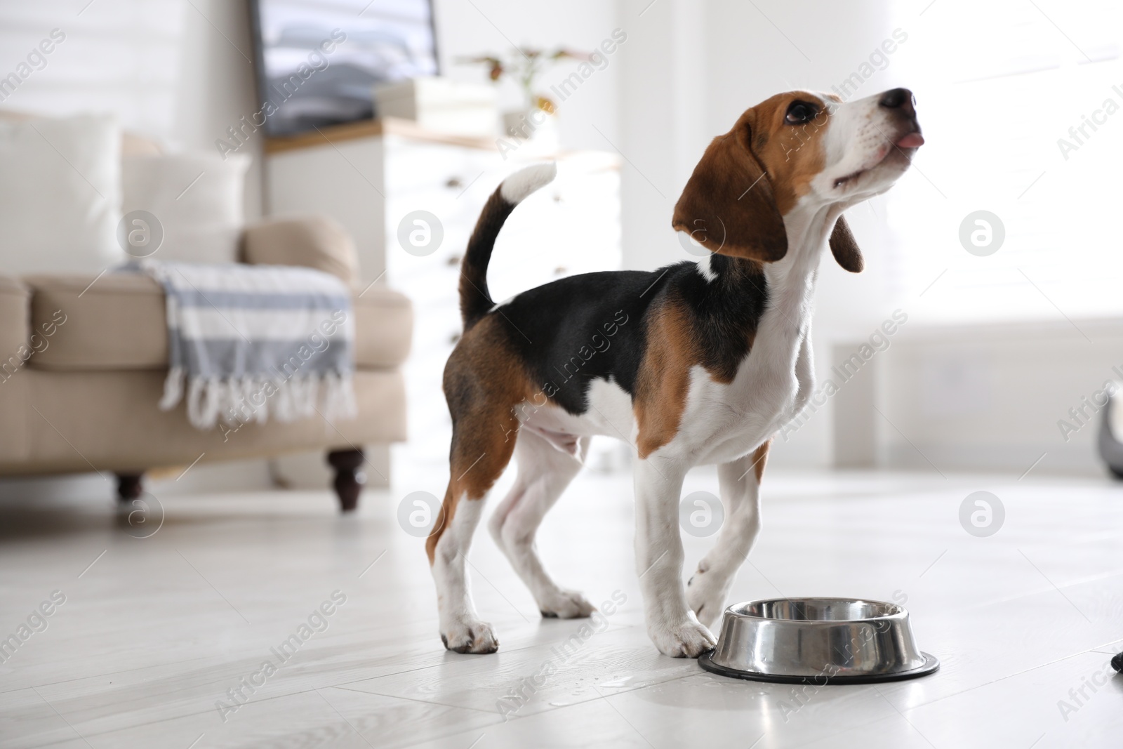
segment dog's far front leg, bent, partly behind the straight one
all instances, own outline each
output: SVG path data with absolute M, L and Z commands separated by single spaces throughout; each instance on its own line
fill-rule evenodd
M 711 627 L 725 608 L 733 585 L 760 532 L 760 476 L 768 456 L 768 442 L 731 463 L 718 466 L 725 522 L 718 542 L 699 563 L 686 584 L 686 600 L 699 621 Z

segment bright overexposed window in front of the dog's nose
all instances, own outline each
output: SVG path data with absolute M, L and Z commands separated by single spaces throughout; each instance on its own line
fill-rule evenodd
M 894 294 L 933 323 L 1123 313 L 1117 3 L 917 9 L 897 7 L 910 38 L 892 63 L 916 92 L 928 140 L 888 195 Z M 960 244 L 978 210 L 1004 226 L 993 255 Z M 978 241 L 987 230 L 970 227 Z

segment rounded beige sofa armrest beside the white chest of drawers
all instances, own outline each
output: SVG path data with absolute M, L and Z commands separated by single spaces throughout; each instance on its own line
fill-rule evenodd
M 241 235 L 241 262 L 250 265 L 300 265 L 358 284 L 355 241 L 327 216 L 267 218 Z

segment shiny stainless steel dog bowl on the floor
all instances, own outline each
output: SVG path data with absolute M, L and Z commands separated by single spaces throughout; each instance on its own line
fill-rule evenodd
M 725 609 L 713 674 L 787 684 L 870 684 L 931 674 L 940 661 L 913 640 L 909 612 L 880 601 L 772 599 Z

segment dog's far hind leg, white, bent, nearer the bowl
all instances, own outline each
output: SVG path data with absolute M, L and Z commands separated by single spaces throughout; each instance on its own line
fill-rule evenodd
M 530 588 L 544 616 L 575 619 L 594 609 L 581 593 L 564 590 L 550 578 L 535 548 L 538 526 L 581 471 L 587 450 L 587 437 L 577 440 L 575 454 L 569 454 L 531 429 L 521 429 L 514 447 L 518 477 L 489 523 L 492 538 Z

